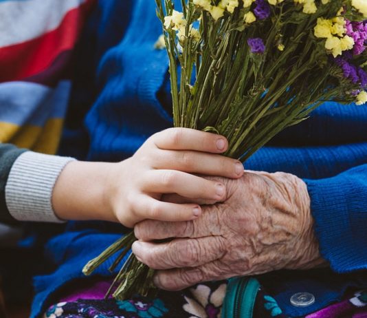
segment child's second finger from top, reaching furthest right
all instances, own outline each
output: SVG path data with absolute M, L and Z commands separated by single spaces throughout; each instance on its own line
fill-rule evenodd
M 177 150 L 157 150 L 153 168 L 225 178 L 239 178 L 244 171 L 242 163 L 232 158 L 199 151 Z

